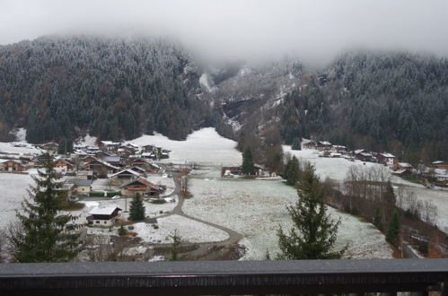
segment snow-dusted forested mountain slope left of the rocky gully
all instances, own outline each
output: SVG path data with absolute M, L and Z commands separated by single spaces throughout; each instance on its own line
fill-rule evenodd
M 207 113 L 199 92 L 189 54 L 168 41 L 52 36 L 0 47 L 0 135 L 25 126 L 31 143 L 85 130 L 182 139 Z

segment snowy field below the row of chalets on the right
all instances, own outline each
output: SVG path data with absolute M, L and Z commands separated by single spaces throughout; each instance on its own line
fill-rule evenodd
M 315 149 L 292 150 L 291 146 L 283 145 L 283 151 L 289 152 L 295 157 L 303 161 L 310 161 L 316 168 L 316 173 L 321 177 L 321 180 L 325 178 L 331 178 L 335 181 L 342 182 L 347 176 L 348 169 L 353 165 L 360 165 L 363 167 L 382 166 L 380 163 L 363 162 L 363 161 L 348 161 L 345 158 L 329 158 L 319 157 L 319 151 Z M 364 164 L 365 163 L 365 164 Z M 392 183 L 399 183 L 410 187 L 421 187 L 418 184 L 408 182 L 402 178 L 391 175 Z

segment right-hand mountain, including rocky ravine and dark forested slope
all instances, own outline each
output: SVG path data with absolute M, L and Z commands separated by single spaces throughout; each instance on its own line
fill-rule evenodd
M 224 123 L 245 135 L 278 128 L 286 144 L 303 136 L 413 161 L 448 159 L 444 58 L 351 52 L 321 71 L 285 60 L 242 68 L 215 89 Z

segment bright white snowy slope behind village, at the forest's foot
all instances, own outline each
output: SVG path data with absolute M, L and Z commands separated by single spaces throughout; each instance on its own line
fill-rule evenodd
M 213 127 L 193 132 L 186 141 L 170 140 L 164 135 L 143 135 L 127 143 L 145 145 L 154 144 L 171 150 L 166 162 L 189 161 L 207 162 L 215 165 L 242 163 L 242 153 L 235 149 L 236 142 L 218 135 Z

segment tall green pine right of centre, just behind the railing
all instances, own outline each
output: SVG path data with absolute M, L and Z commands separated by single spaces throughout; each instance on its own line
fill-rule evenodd
M 338 259 L 347 249 L 334 251 L 340 221 L 333 222 L 327 213 L 319 178 L 314 174 L 314 167 L 308 165 L 300 178 L 299 198 L 295 205 L 288 206 L 287 211 L 293 219 L 294 226 L 285 233 L 277 231 L 280 252 L 277 259 Z

